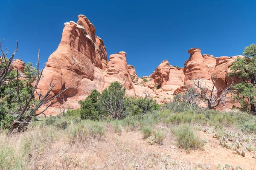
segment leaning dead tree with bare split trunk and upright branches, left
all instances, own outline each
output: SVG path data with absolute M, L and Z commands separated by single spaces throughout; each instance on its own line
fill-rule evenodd
M 46 111 L 47 108 L 49 108 L 53 104 L 52 100 L 55 99 L 56 97 L 58 97 L 59 95 L 61 95 L 64 91 L 66 91 L 68 89 L 68 88 L 66 88 L 66 89 L 60 91 L 60 93 L 57 94 L 57 95 L 52 95 L 52 94 L 50 94 L 50 92 L 52 91 L 52 88 L 54 88 L 54 86 L 56 85 L 57 82 L 52 83 L 52 81 L 51 81 L 50 84 L 49 84 L 49 89 L 48 89 L 46 94 L 42 95 L 41 92 L 38 93 L 36 91 L 36 88 L 37 88 L 38 83 L 39 83 L 39 81 L 42 77 L 43 70 L 44 70 L 44 66 L 43 66 L 43 69 L 41 71 L 39 70 L 39 53 L 40 53 L 40 50 L 38 50 L 37 79 L 36 79 L 36 82 L 35 82 L 35 85 L 34 85 L 32 91 L 31 91 L 31 94 L 29 95 L 29 98 L 26 99 L 25 105 L 22 105 L 22 103 L 20 101 L 19 74 L 18 74 L 18 69 L 17 69 L 17 97 L 18 97 L 18 102 L 19 102 L 19 105 L 20 105 L 20 112 L 18 113 L 17 119 L 12 122 L 12 125 L 9 128 L 9 134 L 10 133 L 15 133 L 15 132 L 20 132 L 20 130 L 22 130 L 23 127 L 25 125 L 27 125 L 33 117 L 44 114 L 44 111 Z M 35 93 L 38 94 L 38 101 L 36 102 L 34 100 L 33 106 L 32 106 L 32 108 L 30 108 L 31 101 L 33 100 L 33 97 L 34 97 Z M 41 111 L 40 113 L 36 113 L 36 111 L 42 105 L 47 105 L 47 107 L 44 108 L 44 110 Z

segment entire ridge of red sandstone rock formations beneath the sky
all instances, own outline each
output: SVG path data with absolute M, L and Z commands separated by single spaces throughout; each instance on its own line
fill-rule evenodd
M 84 15 L 78 16 L 78 22 L 64 23 L 63 34 L 58 48 L 53 52 L 44 70 L 38 90 L 48 90 L 49 82 L 57 82 L 52 90 L 59 94 L 56 103 L 48 109 L 49 113 L 59 113 L 59 109 L 79 108 L 78 101 L 84 100 L 93 89 L 102 92 L 111 82 L 118 81 L 128 89 L 128 95 L 143 96 L 148 91 L 157 102 L 169 102 L 173 94 L 182 92 L 192 79 L 203 79 L 212 85 L 212 75 L 216 78 L 218 88 L 225 88 L 232 79 L 227 75 L 229 67 L 236 57 L 217 57 L 201 55 L 199 48 L 191 48 L 190 57 L 184 68 L 177 68 L 164 60 L 149 76 L 137 77 L 135 68 L 127 65 L 126 53 L 112 54 L 107 61 L 107 52 L 101 38 L 95 36 L 96 30 Z M 240 57 L 240 56 L 238 56 Z M 14 61 L 14 68 L 23 70 L 25 64 L 21 60 Z M 138 81 L 137 81 L 138 79 Z M 239 79 L 234 79 L 238 82 Z M 185 86 L 183 86 L 185 85 Z

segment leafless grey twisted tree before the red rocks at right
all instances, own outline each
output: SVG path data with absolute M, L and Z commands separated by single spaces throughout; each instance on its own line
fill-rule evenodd
M 216 79 L 212 77 L 212 86 L 209 87 L 206 83 L 203 82 L 203 79 L 195 78 L 192 79 L 194 88 L 198 91 L 199 99 L 203 100 L 203 102 L 207 103 L 208 109 L 216 108 L 218 105 L 224 105 L 224 102 L 227 99 L 227 94 L 231 93 L 231 85 L 222 89 L 216 88 Z

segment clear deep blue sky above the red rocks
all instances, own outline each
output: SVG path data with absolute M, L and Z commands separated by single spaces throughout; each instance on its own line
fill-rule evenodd
M 139 77 L 164 60 L 183 67 L 190 48 L 215 57 L 239 55 L 256 43 L 256 0 L 2 0 L 0 39 L 16 58 L 41 63 L 58 47 L 64 23 L 84 14 L 108 56 L 127 53 Z

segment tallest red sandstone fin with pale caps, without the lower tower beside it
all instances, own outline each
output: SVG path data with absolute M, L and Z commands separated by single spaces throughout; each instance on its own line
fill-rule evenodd
M 77 101 L 85 99 L 93 89 L 101 91 L 103 87 L 101 60 L 106 58 L 105 54 L 96 44 L 94 26 L 84 15 L 79 15 L 78 18 L 77 23 L 70 21 L 64 24 L 61 42 L 50 55 L 43 80 L 38 85 L 44 93 L 53 79 L 53 82 L 58 82 L 53 88 L 54 94 L 70 87 L 58 98 L 55 106 L 61 104 L 64 107 L 77 108 Z M 71 99 L 68 101 L 68 98 Z

